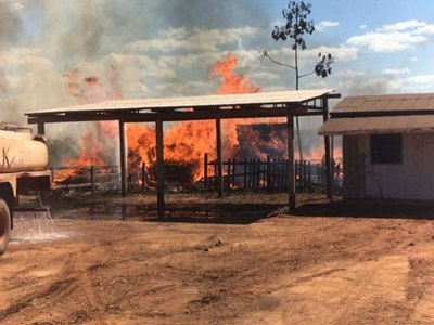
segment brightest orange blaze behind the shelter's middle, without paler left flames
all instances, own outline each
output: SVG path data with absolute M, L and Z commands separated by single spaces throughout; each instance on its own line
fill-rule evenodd
M 238 58 L 229 53 L 222 61 L 212 67 L 210 76 L 221 78 L 219 94 L 257 92 L 258 87 L 251 84 L 244 75 L 234 72 Z M 247 122 L 247 121 L 245 121 Z M 224 155 L 230 157 L 238 146 L 237 131 L 233 121 L 225 121 Z M 154 128 L 130 123 L 127 129 L 128 150 L 131 162 L 143 161 L 148 166 L 155 161 Z M 203 176 L 203 157 L 205 153 L 215 153 L 215 121 L 171 122 L 164 135 L 164 157 L 166 161 L 182 161 L 193 167 L 193 180 Z M 130 168 L 133 168 L 130 166 Z

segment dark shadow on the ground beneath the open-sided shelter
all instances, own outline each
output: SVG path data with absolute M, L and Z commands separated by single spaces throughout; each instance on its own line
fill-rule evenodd
M 167 194 L 164 219 L 157 218 L 154 193 L 125 198 L 119 195 L 51 195 L 46 200 L 53 218 L 248 224 L 282 209 L 288 198 L 285 194 L 251 192 L 225 197 L 214 193 Z

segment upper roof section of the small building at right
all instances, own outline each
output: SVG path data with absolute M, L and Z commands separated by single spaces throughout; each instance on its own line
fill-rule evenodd
M 400 114 L 401 112 L 434 112 L 434 93 L 347 96 L 340 101 L 331 116 Z

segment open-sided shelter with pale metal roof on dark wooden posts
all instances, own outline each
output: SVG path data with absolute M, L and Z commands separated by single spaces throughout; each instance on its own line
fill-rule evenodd
M 295 209 L 294 176 L 294 117 L 322 116 L 328 119 L 329 99 L 340 98 L 331 89 L 278 91 L 247 94 L 161 98 L 144 100 L 119 100 L 63 108 L 26 113 L 28 123 L 38 126 L 38 133 L 46 133 L 46 123 L 115 120 L 119 126 L 122 194 L 127 192 L 127 153 L 125 123 L 154 122 L 156 138 L 157 211 L 164 217 L 164 134 L 163 123 L 213 119 L 216 122 L 217 187 L 221 196 L 222 151 L 221 120 L 233 118 L 286 117 L 289 158 L 289 207 Z M 328 188 L 331 195 L 330 141 L 324 138 Z

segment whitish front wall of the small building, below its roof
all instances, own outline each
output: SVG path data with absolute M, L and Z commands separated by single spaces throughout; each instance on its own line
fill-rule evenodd
M 434 199 L 434 133 L 403 134 L 403 164 L 371 164 L 370 135 L 344 135 L 346 198 Z

